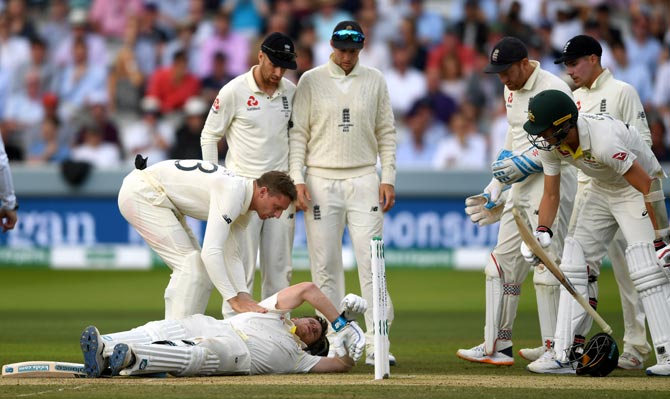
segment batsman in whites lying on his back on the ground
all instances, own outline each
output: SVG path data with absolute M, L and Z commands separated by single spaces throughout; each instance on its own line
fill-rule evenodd
M 324 357 L 328 325 L 318 316 L 289 319 L 304 302 L 321 312 L 336 331 L 335 357 Z M 314 284 L 299 283 L 266 298 L 267 313 L 240 313 L 225 320 L 193 315 L 152 321 L 130 331 L 101 335 L 87 327 L 80 344 L 89 378 L 101 375 L 174 376 L 333 373 L 351 370 L 365 348 L 354 321 L 367 302 L 348 294 L 342 313 Z M 323 355 L 323 356 L 320 356 Z

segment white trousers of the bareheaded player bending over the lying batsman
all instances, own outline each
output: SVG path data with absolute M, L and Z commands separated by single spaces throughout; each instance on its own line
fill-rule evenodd
M 148 173 L 134 170 L 119 190 L 119 210 L 172 270 L 165 289 L 165 319 L 205 313 L 213 285 L 200 244 L 163 189 Z

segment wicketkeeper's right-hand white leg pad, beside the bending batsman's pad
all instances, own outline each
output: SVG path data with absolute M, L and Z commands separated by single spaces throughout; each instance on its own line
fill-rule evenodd
M 556 318 L 558 317 L 558 300 L 561 294 L 561 283 L 543 265 L 535 266 L 533 272 L 535 297 L 537 298 L 537 312 L 540 319 L 540 333 L 542 343 L 554 342 Z

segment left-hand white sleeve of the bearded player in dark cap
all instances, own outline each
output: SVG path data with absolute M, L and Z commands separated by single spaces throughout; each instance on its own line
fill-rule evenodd
M 217 144 L 226 135 L 235 115 L 234 93 L 224 86 L 209 110 L 205 126 L 200 134 L 200 147 L 202 148 L 202 159 L 215 164 L 219 163 L 219 151 Z

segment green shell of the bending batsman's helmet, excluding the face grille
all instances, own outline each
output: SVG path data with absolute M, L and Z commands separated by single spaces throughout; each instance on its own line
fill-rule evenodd
M 550 127 L 576 120 L 579 111 L 570 96 L 560 90 L 544 90 L 528 103 L 528 121 L 523 129 L 537 136 Z

